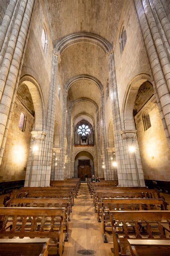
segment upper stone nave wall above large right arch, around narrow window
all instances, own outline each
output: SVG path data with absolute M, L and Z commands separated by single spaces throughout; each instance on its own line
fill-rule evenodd
M 127 41 L 121 54 L 119 38 L 123 26 L 126 29 Z M 124 1 L 117 38 L 115 40 L 114 57 L 119 106 L 122 113 L 124 96 L 132 79 L 140 73 L 150 74 L 147 52 L 132 0 Z

